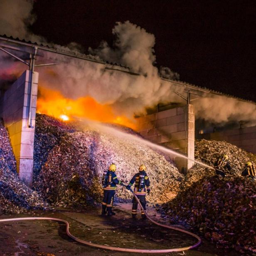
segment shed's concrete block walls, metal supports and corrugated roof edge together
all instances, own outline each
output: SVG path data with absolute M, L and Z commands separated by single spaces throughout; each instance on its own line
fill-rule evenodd
M 38 45 L 6 37 L 5 35 L 0 36 L 0 51 L 29 67 L 29 70 L 25 70 L 12 85 L 4 83 L 0 85 L 0 118 L 3 118 L 10 134 L 19 176 L 30 186 L 32 185 L 34 126 L 39 80 L 39 73 L 35 72 L 34 69 L 56 64 L 37 63 L 36 57 L 43 60 L 45 52 L 52 52 L 96 62 L 99 65 L 103 65 L 105 71 L 111 70 L 125 72 L 128 76 L 140 76 L 140 74 L 130 72 L 128 68 L 118 64 L 90 59 L 86 55 L 64 52 L 42 44 Z M 162 82 L 170 84 L 170 89 L 174 91 L 179 103 L 170 103 L 165 106 L 158 105 L 151 110 L 152 113 L 138 117 L 138 130 L 146 139 L 187 155 L 190 160 L 177 157 L 174 159 L 182 172 L 186 172 L 193 165 L 195 136 L 196 138 L 224 139 L 239 145 L 241 148 L 244 147 L 244 149 L 252 153 L 256 153 L 256 143 L 249 145 L 249 143 L 256 140 L 256 127 L 240 128 L 236 131 L 223 131 L 214 135 L 202 134 L 202 130 L 200 134 L 195 132 L 196 117 L 192 102 L 209 94 L 222 95 L 221 93 L 182 81 L 162 79 Z M 235 99 L 244 101 L 239 98 Z

